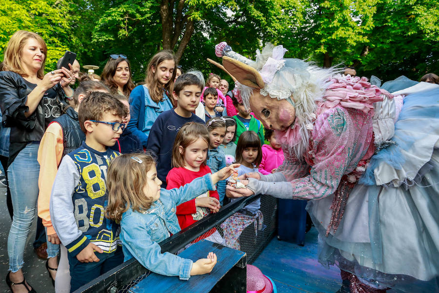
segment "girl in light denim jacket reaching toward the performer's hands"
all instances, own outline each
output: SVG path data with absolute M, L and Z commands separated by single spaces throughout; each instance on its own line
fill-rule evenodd
M 206 174 L 180 188 L 160 188 L 154 159 L 143 153 L 124 154 L 114 159 L 108 169 L 107 218 L 120 221 L 120 240 L 124 261 L 135 257 L 146 269 L 167 276 L 190 276 L 209 273 L 217 256 L 196 262 L 169 252 L 161 253 L 159 242 L 180 231 L 176 205 L 191 200 L 235 171 L 231 165 L 214 174 Z

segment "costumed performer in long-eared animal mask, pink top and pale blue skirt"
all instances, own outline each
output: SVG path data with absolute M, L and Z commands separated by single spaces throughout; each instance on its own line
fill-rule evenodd
M 438 292 L 439 87 L 392 95 L 285 52 L 268 44 L 254 62 L 216 46 L 237 98 L 285 155 L 278 172 L 246 174 L 247 188 L 228 195 L 310 200 L 319 262 L 339 266 L 339 292 Z

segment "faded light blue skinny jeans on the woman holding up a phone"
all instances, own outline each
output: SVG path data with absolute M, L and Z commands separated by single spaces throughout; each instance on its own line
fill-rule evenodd
M 8 167 L 8 183 L 11 189 L 14 215 L 8 236 L 9 271 L 17 272 L 23 266 L 23 253 L 37 210 L 38 143 L 24 147 Z

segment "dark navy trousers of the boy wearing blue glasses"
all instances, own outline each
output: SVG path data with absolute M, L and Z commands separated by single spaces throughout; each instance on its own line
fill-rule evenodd
M 82 285 L 96 279 L 101 274 L 116 268 L 123 263 L 122 248 L 118 247 L 116 252 L 99 253 L 95 251 L 99 262 L 81 263 L 76 256 L 68 254 L 70 266 L 70 292 L 80 288 Z

